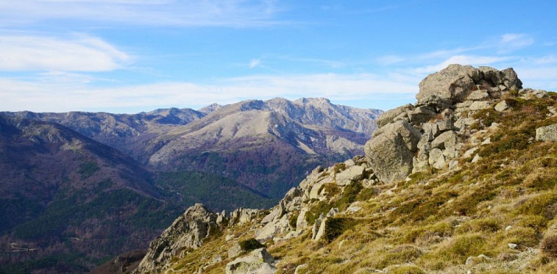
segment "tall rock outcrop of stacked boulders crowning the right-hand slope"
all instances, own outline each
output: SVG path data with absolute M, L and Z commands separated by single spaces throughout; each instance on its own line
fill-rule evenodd
M 394 108 L 377 120 L 379 129 L 364 147 L 370 168 L 385 183 L 427 168 L 454 168 L 460 138 L 478 122 L 473 113 L 492 108 L 503 94 L 521 88 L 512 68 L 449 65 L 430 74 L 420 83 L 416 106 Z M 496 110 L 508 107 L 499 103 Z

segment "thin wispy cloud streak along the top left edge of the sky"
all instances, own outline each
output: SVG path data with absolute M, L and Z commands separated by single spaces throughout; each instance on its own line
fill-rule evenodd
M 265 26 L 274 19 L 275 1 L 249 0 L 22 0 L 0 1 L 0 26 L 51 19 L 148 26 Z

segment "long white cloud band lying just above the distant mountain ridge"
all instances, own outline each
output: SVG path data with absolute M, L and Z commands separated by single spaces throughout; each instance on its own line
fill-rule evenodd
M 15 81 L 0 79 L 1 111 L 99 111 L 146 107 L 192 107 L 218 102 L 230 104 L 244 99 L 327 97 L 336 102 L 376 97 L 413 97 L 416 83 L 401 83 L 372 74 L 307 74 L 248 76 L 223 79 L 212 84 L 186 82 L 153 83 L 142 86 L 95 88 L 87 83 L 65 85 L 60 81 Z M 63 99 L 61 99 L 63 98 Z M 68 104 L 71 102 L 71 104 Z

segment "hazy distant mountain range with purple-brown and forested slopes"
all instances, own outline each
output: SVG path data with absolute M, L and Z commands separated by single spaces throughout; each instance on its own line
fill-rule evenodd
M 146 247 L 195 202 L 270 207 L 308 170 L 362 154 L 380 113 L 280 98 L 0 113 L 1 270 L 87 271 Z

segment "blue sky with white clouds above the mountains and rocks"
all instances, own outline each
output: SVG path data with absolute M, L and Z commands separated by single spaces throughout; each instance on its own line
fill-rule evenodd
M 0 111 L 388 110 L 451 63 L 557 91 L 557 1 L 0 0 Z

